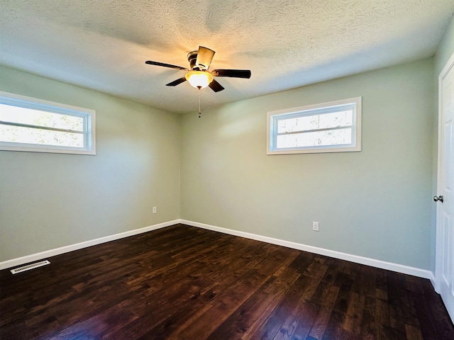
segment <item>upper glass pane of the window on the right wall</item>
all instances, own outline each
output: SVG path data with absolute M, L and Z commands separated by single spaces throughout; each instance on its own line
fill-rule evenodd
M 306 115 L 277 121 L 277 133 L 310 131 L 353 125 L 353 110 Z

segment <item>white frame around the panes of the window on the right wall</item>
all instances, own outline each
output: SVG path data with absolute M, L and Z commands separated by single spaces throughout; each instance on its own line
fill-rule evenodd
M 359 152 L 361 151 L 361 99 L 362 97 L 330 101 L 298 108 L 287 108 L 267 113 L 267 154 L 309 154 L 321 152 Z M 277 121 L 283 118 L 297 118 L 342 111 L 353 106 L 352 143 L 349 145 L 318 145 L 310 147 L 277 148 Z M 323 129 L 323 130 L 336 130 Z M 307 130 L 304 132 L 314 132 Z

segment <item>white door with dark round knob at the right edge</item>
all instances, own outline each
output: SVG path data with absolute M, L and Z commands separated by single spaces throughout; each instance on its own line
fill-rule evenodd
M 436 288 L 454 321 L 454 55 L 438 84 Z

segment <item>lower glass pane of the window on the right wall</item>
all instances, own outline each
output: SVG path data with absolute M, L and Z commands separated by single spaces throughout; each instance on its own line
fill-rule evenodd
M 277 149 L 286 149 L 289 147 L 350 145 L 352 143 L 352 128 L 279 135 L 277 136 L 276 142 Z

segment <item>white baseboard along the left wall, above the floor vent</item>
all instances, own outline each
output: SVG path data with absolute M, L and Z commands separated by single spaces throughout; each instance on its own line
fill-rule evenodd
M 22 257 L 18 257 L 16 259 L 11 259 L 11 260 L 7 260 L 7 261 L 2 261 L 2 262 L 0 262 L 0 270 L 15 267 L 15 266 L 21 266 L 25 263 L 38 261 L 38 260 L 42 260 L 42 259 L 45 259 L 50 256 L 56 256 L 56 255 L 70 252 L 70 251 L 87 248 L 88 246 L 96 246 L 96 244 L 115 241 L 116 239 L 123 239 L 124 237 L 130 237 L 133 235 L 142 234 L 143 232 L 150 232 L 152 230 L 160 229 L 163 227 L 169 227 L 170 225 L 176 225 L 177 223 L 179 223 L 179 220 L 163 222 L 163 223 L 159 223 L 157 225 L 150 225 L 149 227 L 143 227 L 140 229 L 129 230 L 128 232 L 121 232 L 119 234 L 114 234 L 114 235 L 105 236 L 105 237 L 99 237 L 99 239 L 91 239 L 89 241 L 71 244 L 69 246 L 61 246 L 60 248 L 41 251 L 40 253 L 22 256 Z

